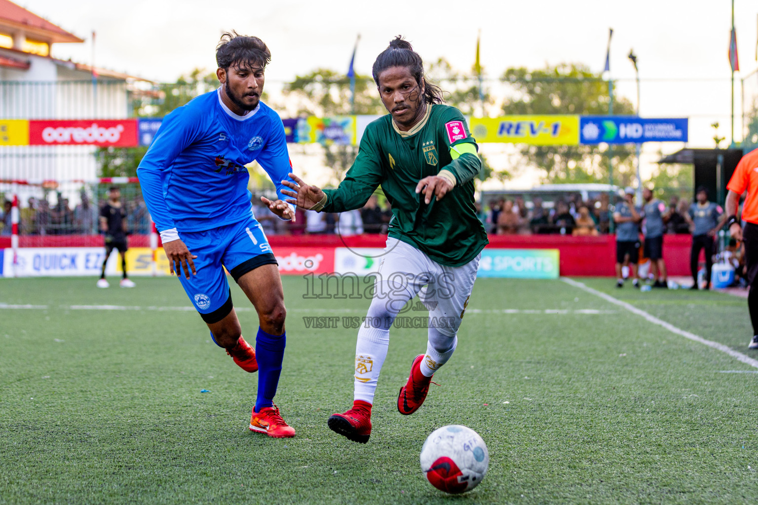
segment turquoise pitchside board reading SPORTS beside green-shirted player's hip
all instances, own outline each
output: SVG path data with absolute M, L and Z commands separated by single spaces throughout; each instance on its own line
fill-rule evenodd
M 558 249 L 484 248 L 477 276 L 558 279 L 559 267 Z

